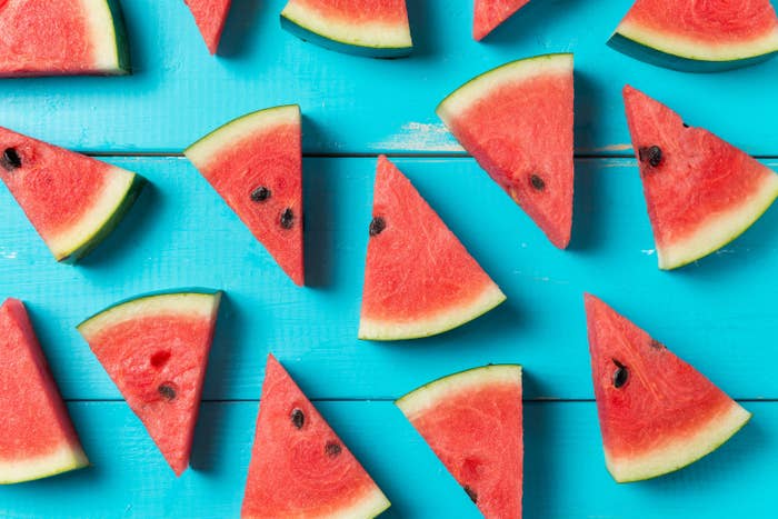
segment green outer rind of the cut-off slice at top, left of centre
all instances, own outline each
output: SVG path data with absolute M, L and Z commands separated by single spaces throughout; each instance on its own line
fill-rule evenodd
M 407 34 L 407 41 L 403 34 L 402 41 L 398 39 L 393 43 L 361 43 L 356 40 L 349 40 L 346 31 L 340 31 L 341 33 L 339 33 L 335 24 L 327 28 L 325 22 L 323 27 L 317 29 L 313 27 L 316 22 L 306 20 L 302 12 L 296 14 L 290 12 L 292 8 L 288 4 L 281 11 L 281 28 L 305 41 L 310 41 L 326 49 L 368 58 L 405 58 L 413 50 L 410 32 Z

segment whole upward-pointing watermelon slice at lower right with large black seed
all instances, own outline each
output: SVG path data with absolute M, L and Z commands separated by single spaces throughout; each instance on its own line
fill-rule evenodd
M 608 470 L 618 482 L 681 469 L 751 415 L 664 345 L 586 295 L 591 376 Z

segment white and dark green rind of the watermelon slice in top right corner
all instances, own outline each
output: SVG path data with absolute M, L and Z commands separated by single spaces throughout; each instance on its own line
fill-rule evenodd
M 777 56 L 778 30 L 754 41 L 711 48 L 692 39 L 662 33 L 625 20 L 616 28 L 608 46 L 658 67 L 682 72 L 721 72 L 757 64 Z

